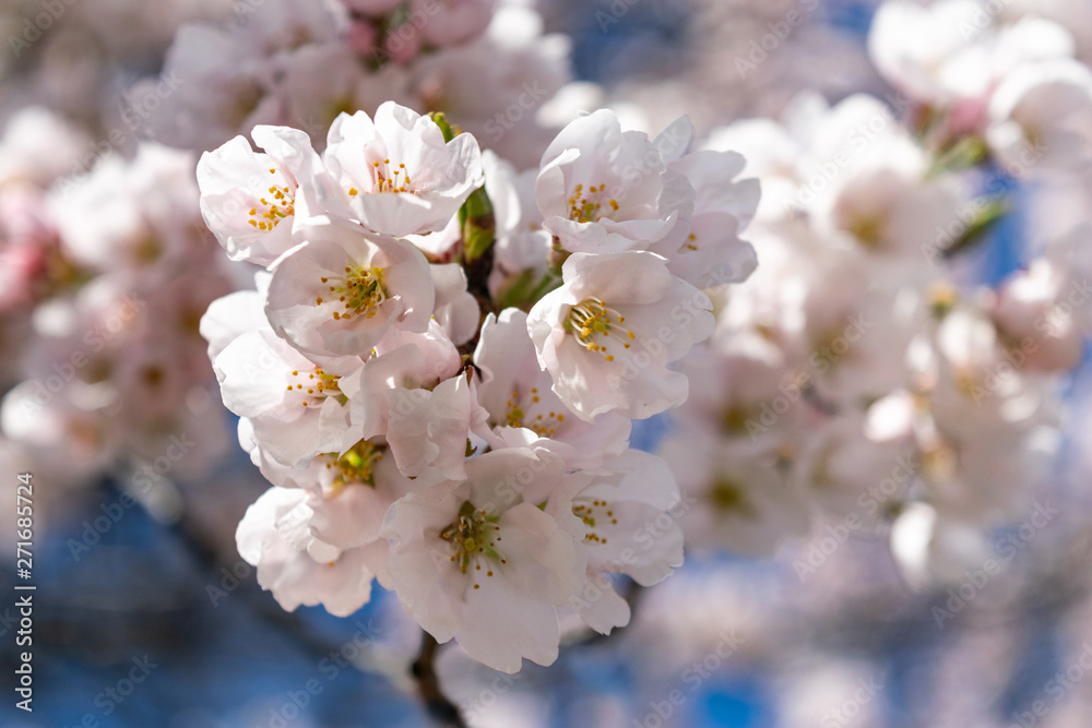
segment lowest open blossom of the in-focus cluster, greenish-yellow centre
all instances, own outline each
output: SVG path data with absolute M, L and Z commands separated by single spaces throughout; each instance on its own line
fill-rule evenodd
M 393 588 L 438 642 L 453 637 L 484 665 L 549 665 L 560 639 L 554 607 L 583 578 L 581 523 L 565 503 L 551 504 L 555 516 L 526 496 L 557 493 L 560 458 L 512 447 L 473 457 L 466 470 L 391 506 L 380 534 L 391 539 Z

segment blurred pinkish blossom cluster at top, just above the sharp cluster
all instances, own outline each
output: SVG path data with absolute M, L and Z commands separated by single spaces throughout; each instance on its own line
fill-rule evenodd
M 568 43 L 543 36 L 533 11 L 498 4 L 240 2 L 230 22 L 182 25 L 161 77 L 128 97 L 136 109 L 154 106 L 145 116 L 157 140 L 197 150 L 257 124 L 304 129 L 321 147 L 339 114 L 370 114 L 393 99 L 442 109 L 521 166 L 533 165 L 549 141 L 534 111 L 569 81 Z M 163 79 L 178 79 L 177 88 L 158 93 Z

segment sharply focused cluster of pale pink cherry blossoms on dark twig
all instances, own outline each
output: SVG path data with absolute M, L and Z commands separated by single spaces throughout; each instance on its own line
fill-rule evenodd
M 287 609 L 348 614 L 372 580 L 437 640 L 549 664 L 558 610 L 607 633 L 681 563 L 685 503 L 631 419 L 745 278 L 758 204 L 734 153 L 597 111 L 520 174 L 393 102 L 306 133 L 259 126 L 198 165 L 229 256 L 265 266 L 201 322 L 239 439 L 274 484 L 239 525 Z M 666 521 L 666 525 L 664 524 Z M 652 530 L 649 524 L 656 524 Z

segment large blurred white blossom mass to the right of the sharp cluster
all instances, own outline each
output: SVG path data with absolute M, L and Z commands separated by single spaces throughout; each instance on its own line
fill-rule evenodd
M 1053 190 L 1061 162 L 1088 168 L 1088 68 L 1046 60 L 1072 53 L 1068 37 L 976 3 L 888 3 L 870 47 L 904 94 L 894 109 L 802 94 L 781 123 L 712 133 L 762 182 L 762 265 L 716 297 L 716 331 L 680 367 L 707 396 L 660 451 L 701 504 L 684 522 L 695 546 L 769 552 L 818 516 L 889 536 L 913 578 L 942 577 L 981 553 L 969 534 L 1029 508 L 1092 332 L 1087 212 L 1057 205 L 1069 222 L 999 281 L 968 262 L 1022 178 Z

